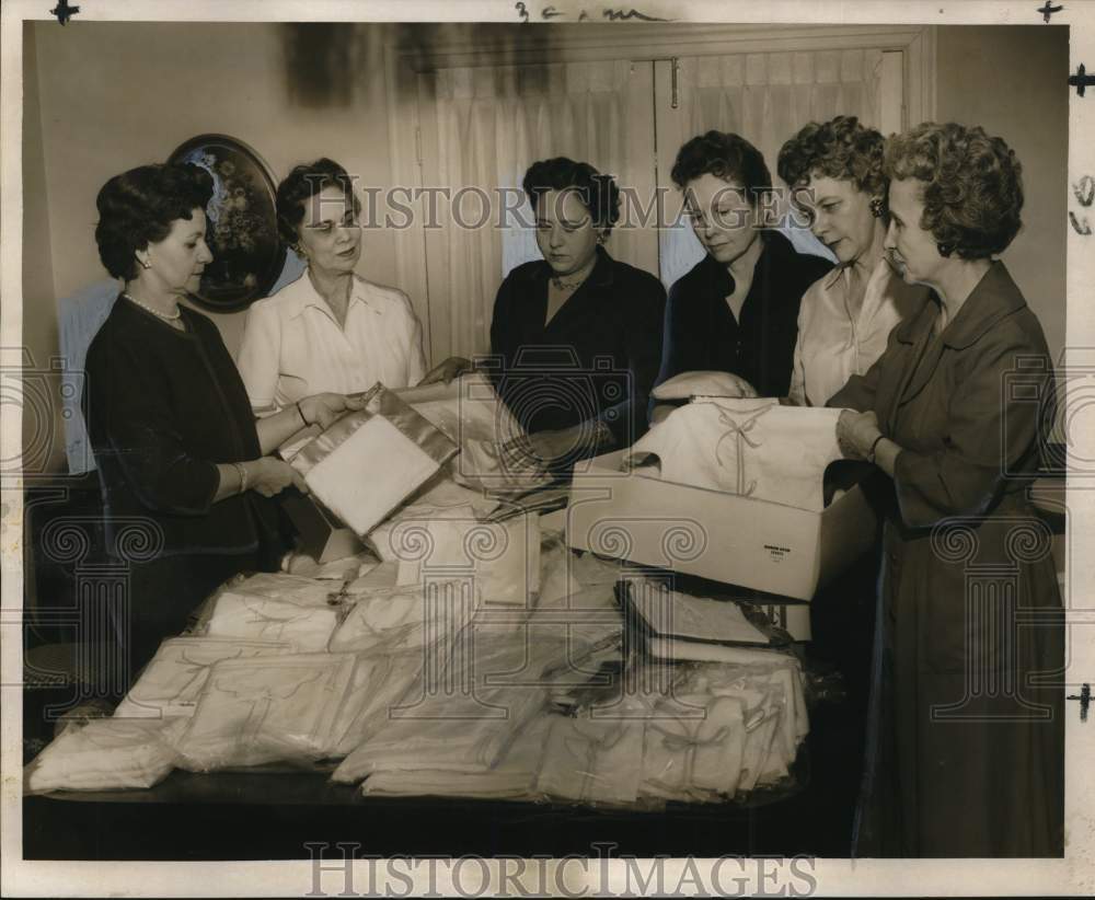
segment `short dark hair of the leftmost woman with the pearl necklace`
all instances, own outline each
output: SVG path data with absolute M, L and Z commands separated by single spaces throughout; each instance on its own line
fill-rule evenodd
M 99 258 L 115 278 L 137 277 L 138 250 L 168 236 L 178 219 L 205 210 L 212 175 L 191 163 L 140 165 L 111 178 L 99 192 L 95 243 Z

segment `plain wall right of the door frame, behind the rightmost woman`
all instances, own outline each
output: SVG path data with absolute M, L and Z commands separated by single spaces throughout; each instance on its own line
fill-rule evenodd
M 983 126 L 1023 163 L 1023 230 L 1003 259 L 1059 359 L 1069 227 L 1068 28 L 941 27 L 937 73 L 936 118 Z

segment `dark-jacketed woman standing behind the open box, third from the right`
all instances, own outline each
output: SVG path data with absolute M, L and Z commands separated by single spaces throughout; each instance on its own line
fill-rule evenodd
M 692 138 L 677 153 L 671 175 L 707 255 L 669 289 L 656 383 L 683 372 L 724 373 L 714 376 L 712 393 L 786 396 L 803 293 L 831 264 L 797 253 L 764 221 L 772 178 L 745 138 L 724 131 Z M 656 393 L 659 400 L 687 399 L 695 383 Z M 656 407 L 654 418 L 670 411 L 668 404 Z

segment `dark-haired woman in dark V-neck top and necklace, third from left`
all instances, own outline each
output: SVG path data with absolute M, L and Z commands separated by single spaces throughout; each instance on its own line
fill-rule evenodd
M 565 466 L 646 430 L 666 295 L 653 275 L 604 250 L 620 217 L 610 175 L 560 157 L 533 163 L 522 187 L 544 258 L 498 288 L 493 378 L 533 455 Z

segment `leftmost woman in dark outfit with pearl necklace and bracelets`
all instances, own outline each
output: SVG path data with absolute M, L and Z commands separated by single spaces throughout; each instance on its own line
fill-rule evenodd
M 180 303 L 212 259 L 212 189 L 197 166 L 143 165 L 99 193 L 100 257 L 125 288 L 88 350 L 84 415 L 107 553 L 124 556 L 137 535 L 146 557 L 110 609 L 124 668 L 103 676 L 116 692 L 217 585 L 278 568 L 288 533 L 270 497 L 303 482 L 266 454 L 350 405 L 319 394 L 255 423 L 217 327 Z

